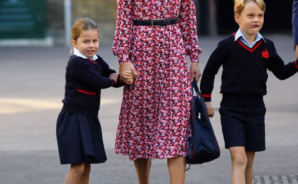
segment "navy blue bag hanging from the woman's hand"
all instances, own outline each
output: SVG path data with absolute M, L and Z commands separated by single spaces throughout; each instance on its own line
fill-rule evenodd
M 207 113 L 204 98 L 201 96 L 195 79 L 192 87 L 195 89 L 196 95 L 193 95 L 191 103 L 192 136 L 189 137 L 189 155 L 186 157 L 186 163 L 203 164 L 219 158 L 221 150 Z

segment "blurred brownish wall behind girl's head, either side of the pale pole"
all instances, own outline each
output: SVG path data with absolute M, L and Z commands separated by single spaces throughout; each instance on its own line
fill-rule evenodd
M 100 29 L 100 44 L 112 44 L 116 26 L 117 0 L 72 0 L 72 24 L 90 18 Z M 47 0 L 46 35 L 55 45 L 65 45 L 64 0 Z M 71 34 L 71 33 L 69 33 Z

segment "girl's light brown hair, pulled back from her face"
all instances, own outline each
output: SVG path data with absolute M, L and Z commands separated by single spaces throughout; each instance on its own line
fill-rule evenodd
M 97 30 L 99 34 L 99 28 L 97 27 L 96 23 L 93 20 L 89 18 L 81 18 L 77 20 L 72 27 L 72 40 L 76 41 L 82 32 L 90 29 Z M 71 53 L 73 52 L 74 52 L 74 46 L 72 44 Z

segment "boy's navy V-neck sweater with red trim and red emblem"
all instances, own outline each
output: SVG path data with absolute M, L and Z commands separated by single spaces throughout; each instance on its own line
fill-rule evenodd
M 211 54 L 201 78 L 201 92 L 205 101 L 211 101 L 215 75 L 223 66 L 221 105 L 252 108 L 264 105 L 267 93 L 267 69 L 278 79 L 285 80 L 298 72 L 298 61 L 284 64 L 277 54 L 274 43 L 260 40 L 252 49 L 234 34 L 219 42 Z

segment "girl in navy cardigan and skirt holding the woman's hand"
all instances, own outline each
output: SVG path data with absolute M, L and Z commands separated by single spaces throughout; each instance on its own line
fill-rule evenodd
M 100 91 L 121 87 L 119 75 L 98 55 L 99 29 L 83 18 L 72 28 L 72 52 L 66 67 L 63 108 L 57 119 L 57 142 L 61 164 L 71 164 L 65 184 L 88 184 L 90 164 L 107 160 L 98 119 Z M 133 81 L 131 71 L 123 73 Z

